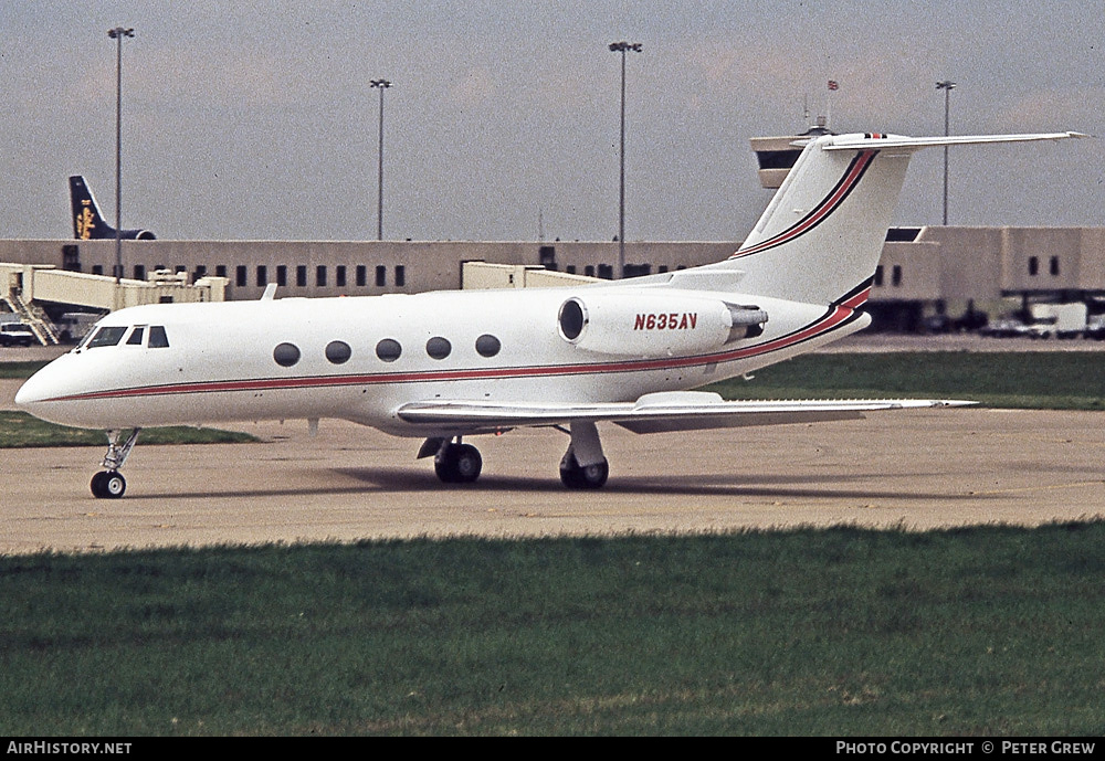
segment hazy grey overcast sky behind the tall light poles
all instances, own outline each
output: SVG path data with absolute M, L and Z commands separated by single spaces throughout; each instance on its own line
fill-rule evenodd
M 1101 0 L 19 0 L 0 3 L 0 237 L 67 237 L 66 177 L 162 239 L 611 240 L 620 56 L 628 240 L 744 237 L 748 139 L 1098 128 Z M 830 95 L 829 80 L 840 84 Z M 953 224 L 1105 225 L 1101 138 L 951 151 Z M 899 224 L 939 223 L 919 154 Z

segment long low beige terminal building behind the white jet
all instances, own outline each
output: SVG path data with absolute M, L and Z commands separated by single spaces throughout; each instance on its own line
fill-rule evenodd
M 627 242 L 627 274 L 673 272 L 724 260 L 739 241 Z M 124 241 L 123 276 L 169 271 L 194 283 L 225 278 L 227 299 L 372 296 L 472 287 L 466 262 L 525 265 L 612 278 L 615 242 Z M 114 240 L 3 240 L 0 262 L 114 274 Z M 520 285 L 520 284 L 519 284 Z M 9 288 L 18 284 L 8 284 Z M 918 329 L 925 318 L 991 318 L 1029 300 L 1105 299 L 1105 228 L 893 228 L 869 308 L 875 328 Z

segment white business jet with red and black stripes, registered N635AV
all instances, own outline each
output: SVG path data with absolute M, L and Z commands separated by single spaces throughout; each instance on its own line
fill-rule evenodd
M 724 262 L 581 286 L 169 304 L 107 315 L 15 397 L 43 420 L 107 431 L 96 497 L 151 425 L 339 418 L 424 438 L 448 484 L 482 468 L 462 437 L 518 426 L 570 435 L 569 488 L 608 475 L 599 422 L 636 433 L 861 418 L 958 402 L 740 401 L 693 391 L 865 327 L 861 310 L 909 157 L 932 146 L 1077 133 L 810 139 Z M 120 432 L 129 430 L 124 440 Z

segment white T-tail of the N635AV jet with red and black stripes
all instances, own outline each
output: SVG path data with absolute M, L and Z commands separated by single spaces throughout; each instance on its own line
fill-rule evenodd
M 857 306 L 870 290 L 913 154 L 936 146 L 1067 137 L 1082 135 L 813 138 L 740 249 L 714 266 L 739 267 L 741 288 L 751 293 Z

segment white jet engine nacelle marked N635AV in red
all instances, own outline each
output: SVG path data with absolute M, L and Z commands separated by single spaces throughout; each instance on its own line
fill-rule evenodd
M 560 305 L 560 337 L 588 351 L 672 357 L 718 349 L 764 332 L 767 313 L 719 298 L 672 293 L 572 296 Z

